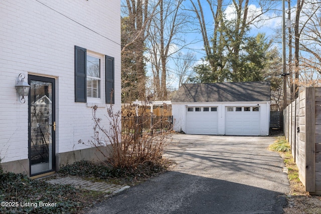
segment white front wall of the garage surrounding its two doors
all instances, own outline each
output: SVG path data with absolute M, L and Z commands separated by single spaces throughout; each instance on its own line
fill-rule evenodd
M 174 117 L 174 130 L 187 132 L 187 107 L 211 107 L 217 106 L 218 115 L 218 135 L 225 135 L 226 133 L 226 107 L 228 106 L 252 106 L 259 104 L 260 107 L 260 130 L 259 135 L 266 136 L 269 134 L 270 126 L 270 102 L 220 102 L 220 103 L 181 103 L 172 102 L 172 112 Z

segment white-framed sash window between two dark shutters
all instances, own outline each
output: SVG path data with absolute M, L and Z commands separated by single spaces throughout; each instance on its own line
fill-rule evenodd
M 87 97 L 100 98 L 100 58 L 87 52 Z

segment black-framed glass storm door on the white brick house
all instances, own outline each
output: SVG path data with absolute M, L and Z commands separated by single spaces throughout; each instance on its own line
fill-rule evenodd
M 28 76 L 30 175 L 55 170 L 55 79 Z

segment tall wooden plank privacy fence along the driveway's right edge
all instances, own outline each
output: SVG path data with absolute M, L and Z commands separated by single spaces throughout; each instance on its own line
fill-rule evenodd
M 305 88 L 283 111 L 284 133 L 310 194 L 321 194 L 321 88 Z

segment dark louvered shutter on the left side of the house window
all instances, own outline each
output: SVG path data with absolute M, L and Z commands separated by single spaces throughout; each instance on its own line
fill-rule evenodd
M 75 46 L 75 102 L 87 102 L 87 50 Z

